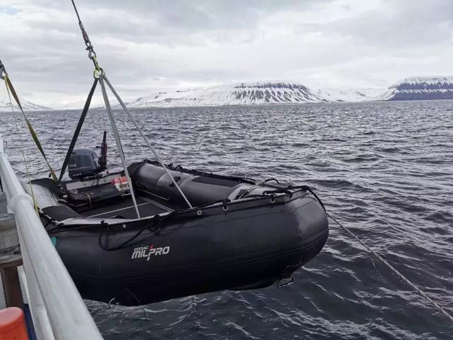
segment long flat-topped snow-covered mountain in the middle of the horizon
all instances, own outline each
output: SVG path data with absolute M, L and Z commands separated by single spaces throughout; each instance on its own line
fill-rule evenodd
M 372 101 L 384 89 L 312 89 L 285 81 L 256 81 L 206 89 L 161 91 L 128 103 L 130 107 L 225 106 L 275 103 Z

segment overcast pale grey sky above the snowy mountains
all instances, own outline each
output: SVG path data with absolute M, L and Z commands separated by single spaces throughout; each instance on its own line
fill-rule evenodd
M 76 3 L 126 100 L 260 79 L 358 88 L 453 74 L 452 0 Z M 93 64 L 70 0 L 0 0 L 0 59 L 35 103 L 84 101 L 91 86 Z

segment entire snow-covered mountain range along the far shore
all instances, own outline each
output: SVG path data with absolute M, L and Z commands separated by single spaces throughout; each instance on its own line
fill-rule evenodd
M 335 103 L 362 101 L 411 101 L 453 99 L 453 76 L 410 77 L 388 89 L 324 89 L 289 81 L 254 81 L 207 88 L 159 91 L 127 103 L 131 108 L 229 106 L 278 103 Z M 22 101 L 25 111 L 50 110 Z M 82 108 L 84 101 L 68 102 L 63 109 Z M 102 106 L 99 106 L 102 107 Z M 114 106 L 119 108 L 119 105 Z M 97 106 L 92 106 L 97 108 Z M 9 101 L 0 96 L 0 111 L 10 111 Z

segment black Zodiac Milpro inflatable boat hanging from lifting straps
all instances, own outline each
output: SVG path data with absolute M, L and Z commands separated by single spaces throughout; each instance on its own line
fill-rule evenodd
M 306 186 L 169 164 L 173 182 L 159 163 L 144 161 L 128 167 L 135 206 L 124 171 L 80 171 L 98 166 L 95 155 L 75 150 L 69 181 L 32 181 L 42 220 L 85 298 L 143 305 L 263 288 L 291 278 L 326 243 L 326 212 Z

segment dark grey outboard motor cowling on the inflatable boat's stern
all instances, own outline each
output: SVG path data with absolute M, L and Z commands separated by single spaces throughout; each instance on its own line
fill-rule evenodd
M 69 159 L 68 172 L 71 179 L 98 174 L 98 155 L 91 149 L 75 149 Z

